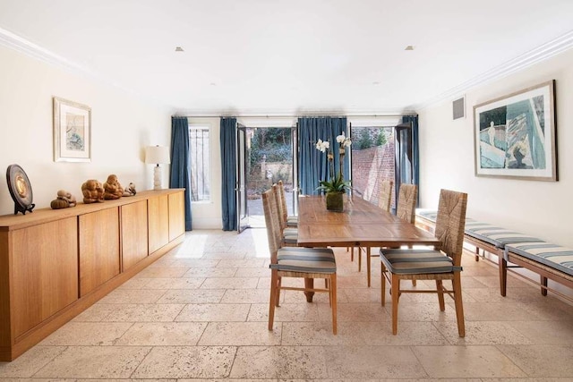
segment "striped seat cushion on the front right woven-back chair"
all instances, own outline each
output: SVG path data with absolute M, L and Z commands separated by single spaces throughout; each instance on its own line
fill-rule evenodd
M 380 259 L 390 273 L 397 275 L 420 275 L 425 273 L 449 273 L 461 270 L 440 250 L 380 250 Z

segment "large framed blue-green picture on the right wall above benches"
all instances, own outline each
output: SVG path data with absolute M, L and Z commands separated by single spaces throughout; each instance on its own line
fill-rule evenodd
M 474 106 L 475 176 L 558 180 L 555 81 Z

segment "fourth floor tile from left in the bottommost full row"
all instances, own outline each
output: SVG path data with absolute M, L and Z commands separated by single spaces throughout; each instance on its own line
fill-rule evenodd
M 320 346 L 241 346 L 230 378 L 328 378 Z

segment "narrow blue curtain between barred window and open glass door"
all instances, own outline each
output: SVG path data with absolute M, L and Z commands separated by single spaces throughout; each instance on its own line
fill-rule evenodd
M 236 231 L 236 118 L 221 118 L 223 231 Z

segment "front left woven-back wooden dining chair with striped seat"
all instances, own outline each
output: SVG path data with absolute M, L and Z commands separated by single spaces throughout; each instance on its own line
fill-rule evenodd
M 303 291 L 306 293 L 329 293 L 329 304 L 332 309 L 332 333 L 337 334 L 337 265 L 334 251 L 329 248 L 283 247 L 280 222 L 278 221 L 277 199 L 273 190 L 262 193 L 262 207 L 267 225 L 267 237 L 270 252 L 270 301 L 269 330 L 272 330 L 275 318 L 275 307 L 279 306 L 280 291 Z M 323 278 L 324 288 L 314 286 L 283 286 L 282 277 L 304 279 Z

